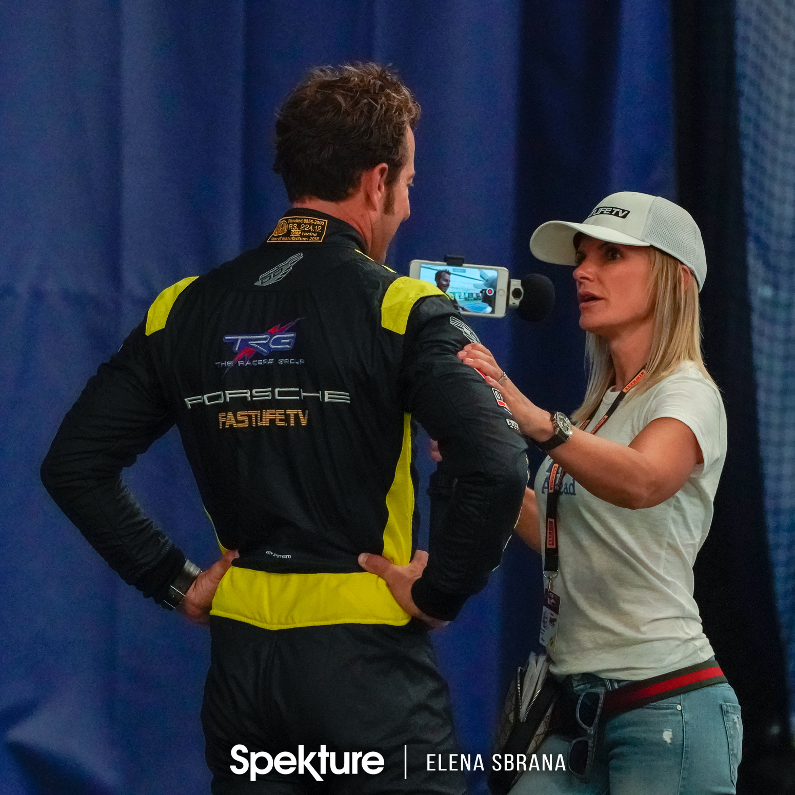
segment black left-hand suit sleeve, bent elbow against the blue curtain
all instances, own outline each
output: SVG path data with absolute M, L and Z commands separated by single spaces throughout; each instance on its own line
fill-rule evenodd
M 141 324 L 99 366 L 64 417 L 41 480 L 111 568 L 160 604 L 185 557 L 121 479 L 122 469 L 174 423 L 153 366 L 156 343 Z

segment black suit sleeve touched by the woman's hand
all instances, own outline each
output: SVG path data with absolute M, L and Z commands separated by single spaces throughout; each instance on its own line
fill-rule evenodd
M 417 302 L 406 329 L 407 410 L 439 442 L 446 474 L 456 478 L 448 512 L 429 540 L 428 565 L 412 588 L 417 607 L 444 620 L 456 618 L 498 566 L 528 478 L 526 444 L 510 411 L 456 356 L 473 337 L 436 297 Z

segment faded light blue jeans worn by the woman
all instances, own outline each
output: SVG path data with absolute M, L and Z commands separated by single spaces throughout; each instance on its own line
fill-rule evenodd
M 581 693 L 625 683 L 582 673 L 572 684 Z M 568 773 L 570 740 L 549 735 L 537 754 L 539 761 L 552 754 L 553 770 L 528 770 L 510 795 L 734 795 L 743 722 L 730 684 L 681 693 L 600 723 L 587 784 Z M 566 772 L 554 770 L 558 754 Z

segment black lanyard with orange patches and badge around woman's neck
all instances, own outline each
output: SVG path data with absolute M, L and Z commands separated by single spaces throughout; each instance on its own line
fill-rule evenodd
M 618 397 L 612 402 L 611 406 L 604 413 L 599 422 L 596 423 L 591 433 L 597 432 L 619 408 L 621 401 L 633 386 L 638 386 L 641 379 L 646 374 L 645 365 L 640 372 L 619 392 Z M 589 423 L 594 418 L 597 409 L 593 410 L 591 416 L 580 426 L 581 430 L 588 428 Z M 563 479 L 566 476 L 564 468 L 559 463 L 553 463 L 549 470 L 549 486 L 547 487 L 547 513 L 546 513 L 546 532 L 544 537 L 544 605 L 541 609 L 541 636 L 538 638 L 542 646 L 546 646 L 549 651 L 555 648 L 555 638 L 557 637 L 557 627 L 560 622 L 560 596 L 554 592 L 555 578 L 560 568 L 560 557 L 557 548 L 557 501 L 560 498 L 560 490 L 563 488 Z

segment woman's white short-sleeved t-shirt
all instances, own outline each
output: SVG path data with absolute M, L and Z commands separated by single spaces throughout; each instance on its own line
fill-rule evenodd
M 618 394 L 607 391 L 589 428 Z M 687 362 L 645 393 L 630 391 L 598 435 L 629 445 L 659 417 L 684 422 L 704 456 L 673 497 L 630 510 L 595 497 L 570 475 L 564 478 L 553 673 L 638 680 L 712 657 L 692 597 L 692 566 L 712 522 L 726 458 L 726 413 L 717 388 Z M 551 466 L 548 457 L 535 481 L 542 553 Z

